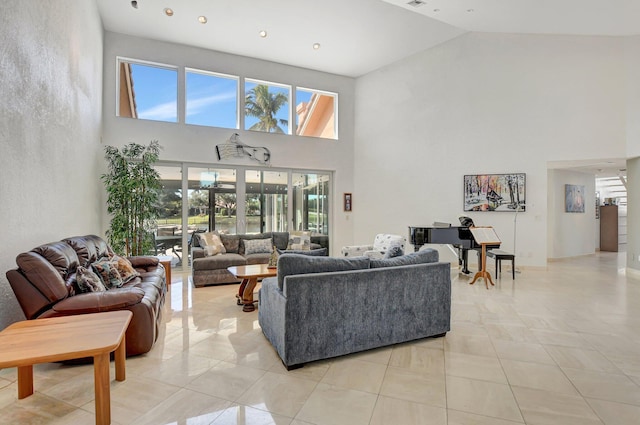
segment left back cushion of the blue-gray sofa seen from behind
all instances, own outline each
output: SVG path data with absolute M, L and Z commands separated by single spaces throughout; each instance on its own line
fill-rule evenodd
M 283 254 L 278 258 L 278 288 L 284 287 L 284 278 L 295 274 L 327 273 L 369 268 L 369 257 L 316 257 L 302 254 Z

